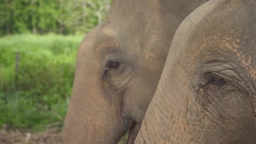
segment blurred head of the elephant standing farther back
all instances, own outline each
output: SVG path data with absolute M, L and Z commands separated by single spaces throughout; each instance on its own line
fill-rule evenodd
M 78 50 L 64 144 L 115 144 L 129 128 L 133 143 L 176 28 L 205 1 L 114 1 Z

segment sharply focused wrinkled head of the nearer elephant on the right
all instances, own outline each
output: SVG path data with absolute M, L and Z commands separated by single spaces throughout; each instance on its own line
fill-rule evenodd
M 211 0 L 179 26 L 136 144 L 256 144 L 256 1 Z

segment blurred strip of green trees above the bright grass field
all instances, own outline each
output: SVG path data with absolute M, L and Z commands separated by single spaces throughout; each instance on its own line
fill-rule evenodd
M 112 0 L 0 0 L 0 35 L 86 33 L 107 15 Z

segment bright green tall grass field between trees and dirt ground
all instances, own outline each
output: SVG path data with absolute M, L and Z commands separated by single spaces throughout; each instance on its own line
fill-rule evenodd
M 6 123 L 14 128 L 38 131 L 46 124 L 63 122 L 82 38 L 60 35 L 0 38 L 3 67 L 0 127 Z

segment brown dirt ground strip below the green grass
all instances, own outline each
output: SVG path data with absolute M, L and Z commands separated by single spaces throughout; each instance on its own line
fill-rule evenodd
M 58 128 L 48 128 L 43 132 L 28 133 L 5 126 L 0 130 L 0 144 L 62 144 L 61 132 Z

